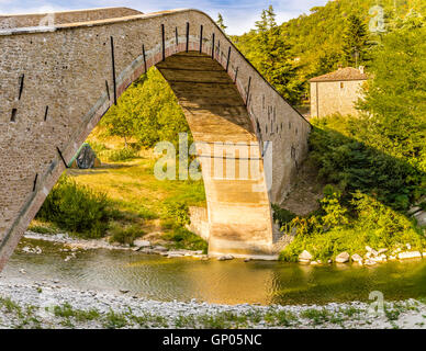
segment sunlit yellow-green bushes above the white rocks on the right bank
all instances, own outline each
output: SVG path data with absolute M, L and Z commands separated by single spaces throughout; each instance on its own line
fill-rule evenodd
M 410 244 L 412 249 L 421 251 L 426 246 L 425 236 L 412 220 L 374 197 L 356 192 L 351 206 L 349 217 L 338 193 L 326 194 L 320 215 L 296 217 L 290 223 L 296 235 L 280 259 L 296 261 L 307 250 L 315 260 L 324 262 L 344 251 L 363 254 L 366 246 L 393 250 Z

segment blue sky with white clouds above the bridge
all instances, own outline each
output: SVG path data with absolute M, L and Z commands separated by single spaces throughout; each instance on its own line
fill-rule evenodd
M 220 12 L 227 25 L 227 34 L 243 34 L 254 27 L 261 10 L 273 5 L 279 23 L 309 13 L 328 0 L 0 0 L 0 14 L 38 13 L 51 11 L 127 7 L 144 13 L 171 9 L 198 9 L 213 20 Z

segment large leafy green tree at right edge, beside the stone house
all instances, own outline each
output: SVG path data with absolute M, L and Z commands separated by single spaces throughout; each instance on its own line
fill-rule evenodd
M 365 140 L 426 172 L 426 25 L 410 23 L 383 36 L 374 49 L 369 69 L 374 79 L 358 107 Z

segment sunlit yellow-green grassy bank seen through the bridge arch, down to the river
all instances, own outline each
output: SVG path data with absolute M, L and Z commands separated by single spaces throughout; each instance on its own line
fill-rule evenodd
M 123 157 L 111 158 L 110 151 L 122 147 L 116 140 L 99 140 L 94 132 L 89 143 L 96 146 L 104 163 L 90 170 L 69 169 L 67 176 L 77 185 L 87 186 L 108 199 L 110 219 L 107 234 L 111 242 L 133 245 L 146 233 L 161 231 L 160 239 L 170 241 L 170 248 L 206 251 L 206 242 L 184 228 L 189 223 L 188 206 L 205 206 L 202 181 L 157 180 L 153 151 L 132 149 L 132 155 L 126 154 L 128 157 L 123 154 Z M 102 155 L 105 157 L 102 158 Z M 41 234 L 58 233 L 60 229 L 40 218 L 30 226 L 30 230 Z

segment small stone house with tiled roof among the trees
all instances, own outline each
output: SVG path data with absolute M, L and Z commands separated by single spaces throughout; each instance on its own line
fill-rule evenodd
M 338 70 L 312 78 L 311 117 L 323 117 L 334 113 L 357 115 L 355 102 L 360 97 L 360 88 L 368 79 L 363 67 L 339 68 Z

